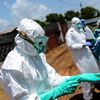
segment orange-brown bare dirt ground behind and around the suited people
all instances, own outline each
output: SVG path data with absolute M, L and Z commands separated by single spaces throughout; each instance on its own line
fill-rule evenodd
M 79 74 L 76 68 L 70 52 L 65 44 L 48 51 L 46 53 L 48 63 L 56 69 L 56 71 L 61 75 L 76 75 Z M 96 90 L 96 89 L 95 89 Z M 0 100 L 9 100 L 7 95 L 0 89 Z M 83 100 L 81 86 L 79 86 L 74 94 L 62 96 L 59 100 Z M 94 93 L 93 100 L 100 100 L 100 93 L 96 90 Z

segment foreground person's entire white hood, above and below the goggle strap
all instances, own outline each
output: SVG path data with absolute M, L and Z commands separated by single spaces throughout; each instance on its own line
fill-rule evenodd
M 22 19 L 17 30 L 19 33 L 25 33 L 33 43 L 38 36 L 45 36 L 43 28 L 31 19 Z M 22 38 L 20 34 L 15 37 L 15 42 L 17 44 L 17 47 L 21 48 L 28 55 L 36 56 L 38 54 L 37 49 L 34 47 L 34 45 Z

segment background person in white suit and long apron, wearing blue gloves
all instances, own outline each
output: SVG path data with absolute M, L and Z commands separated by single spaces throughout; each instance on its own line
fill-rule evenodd
M 66 33 L 66 44 L 71 51 L 73 60 L 78 67 L 80 73 L 98 73 L 99 68 L 95 58 L 88 46 L 90 42 L 86 42 L 84 30 L 79 18 L 73 17 L 71 27 Z M 82 83 L 83 98 L 85 100 L 92 99 L 92 84 L 88 82 Z

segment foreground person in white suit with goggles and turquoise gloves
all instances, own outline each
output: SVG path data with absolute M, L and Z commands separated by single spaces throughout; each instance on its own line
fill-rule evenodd
M 74 93 L 80 82 L 100 83 L 100 73 L 60 76 L 47 62 L 48 38 L 42 27 L 24 18 L 17 28 L 16 46 L 0 70 L 0 82 L 10 100 L 54 100 Z

